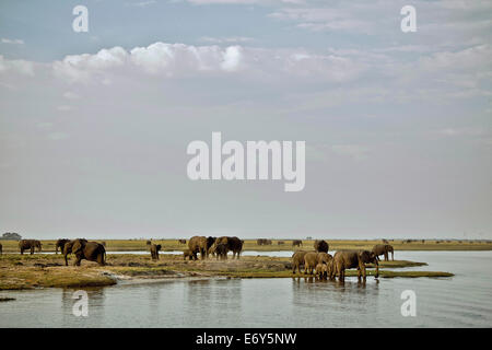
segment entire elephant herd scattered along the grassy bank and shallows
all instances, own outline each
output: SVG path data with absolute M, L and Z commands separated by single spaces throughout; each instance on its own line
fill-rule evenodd
M 227 259 L 227 253 L 232 252 L 232 258 L 239 259 L 243 250 L 244 241 L 236 236 L 192 236 L 188 240 L 178 240 L 180 244 L 188 243 L 188 249 L 183 253 L 184 259 L 197 260 L 198 254 L 201 259 L 215 257 L 215 259 Z M 278 243 L 280 243 L 279 241 Z M 271 245 L 271 240 L 257 240 L 257 245 Z M 282 242 L 284 244 L 284 242 Z M 84 238 L 68 240 L 60 238 L 55 244 L 55 254 L 58 249 L 63 255 L 65 265 L 68 266 L 68 255 L 75 256 L 75 266 L 80 266 L 83 259 L 95 261 L 101 266 L 106 265 L 106 249 L 105 242 L 90 242 Z M 159 260 L 159 252 L 162 249 L 160 244 L 153 244 L 147 241 L 152 260 Z M 302 246 L 301 240 L 292 241 L 292 246 Z M 38 240 L 22 240 L 19 242 L 19 249 L 21 254 L 30 252 L 34 254 L 35 250 L 42 252 L 42 243 Z M 358 278 L 366 279 L 366 264 L 374 264 L 376 267 L 375 277 L 379 275 L 379 256 L 384 256 L 385 260 L 389 260 L 389 253 L 394 260 L 395 249 L 389 244 L 377 244 L 370 250 L 338 250 L 333 256 L 328 254 L 329 245 L 326 241 L 315 241 L 314 250 L 297 250 L 292 255 L 292 273 L 302 273 L 301 268 L 304 269 L 304 275 L 314 275 L 319 279 L 335 280 L 337 277 L 340 281 L 344 280 L 345 270 L 356 268 Z M 0 254 L 2 253 L 2 245 L 0 244 Z

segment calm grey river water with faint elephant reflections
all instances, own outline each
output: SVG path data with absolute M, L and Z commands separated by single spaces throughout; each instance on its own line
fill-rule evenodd
M 246 253 L 246 252 L 245 252 Z M 258 252 L 290 256 L 291 252 Z M 308 278 L 124 281 L 84 289 L 87 317 L 74 316 L 73 289 L 2 291 L 0 327 L 492 327 L 492 252 L 396 252 L 425 261 L 411 270 L 453 278 L 379 279 L 344 284 Z M 401 293 L 415 293 L 403 317 Z

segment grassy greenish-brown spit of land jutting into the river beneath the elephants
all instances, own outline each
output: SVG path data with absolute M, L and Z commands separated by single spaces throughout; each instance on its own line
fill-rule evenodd
M 189 261 L 181 255 L 161 255 L 159 261 L 152 261 L 150 255 L 115 254 L 107 255 L 107 266 L 82 261 L 81 267 L 73 267 L 73 257 L 69 267 L 58 255 L 20 255 L 0 256 L 0 290 L 19 290 L 33 288 L 80 288 L 116 284 L 125 279 L 163 279 L 184 277 L 207 278 L 311 278 L 304 273 L 292 273 L 291 258 L 267 256 L 243 256 L 239 260 L 227 259 Z M 442 271 L 395 271 L 394 268 L 415 267 L 425 262 L 395 260 L 382 261 L 382 278 L 452 277 Z M 371 266 L 367 266 L 371 268 Z M 371 276 L 374 270 L 368 269 Z M 356 276 L 356 270 L 347 271 L 347 276 Z

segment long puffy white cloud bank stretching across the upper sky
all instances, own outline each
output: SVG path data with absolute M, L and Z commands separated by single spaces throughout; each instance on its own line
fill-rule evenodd
M 130 51 L 121 47 L 95 55 L 67 56 L 52 65 L 57 77 L 68 81 L 107 81 L 106 72 L 125 68 L 164 77 L 197 77 L 201 73 L 266 73 L 274 77 L 305 77 L 343 82 L 358 77 L 366 67 L 337 55 L 314 55 L 305 50 L 221 48 L 185 44 L 154 43 Z M 110 79 L 109 79 L 110 81 Z

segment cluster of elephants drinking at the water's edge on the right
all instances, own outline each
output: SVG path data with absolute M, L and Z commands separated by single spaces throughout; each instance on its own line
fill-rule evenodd
M 325 241 L 314 243 L 314 252 L 297 250 L 292 255 L 292 273 L 297 270 L 301 273 L 301 266 L 304 267 L 304 273 L 315 275 L 319 279 L 335 280 L 343 282 L 345 269 L 358 269 L 358 279 L 366 279 L 366 264 L 376 266 L 375 277 L 379 277 L 379 256 L 384 255 L 388 260 L 388 253 L 391 253 L 394 259 L 394 248 L 389 244 L 378 244 L 370 250 L 338 250 L 333 256 L 328 254 L 329 245 Z

